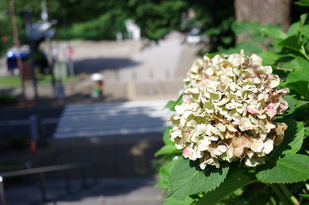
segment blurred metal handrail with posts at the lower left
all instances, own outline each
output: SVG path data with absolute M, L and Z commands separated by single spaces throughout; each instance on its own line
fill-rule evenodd
M 28 174 L 40 174 L 42 198 L 43 198 L 44 201 L 47 201 L 46 186 L 45 186 L 45 172 L 64 170 L 65 171 L 65 180 L 66 180 L 66 192 L 67 192 L 67 194 L 70 194 L 71 189 L 70 189 L 69 170 L 70 169 L 78 169 L 78 168 L 81 169 L 82 187 L 86 188 L 87 187 L 86 167 L 90 167 L 90 166 L 92 166 L 93 184 L 95 184 L 97 182 L 96 172 L 95 172 L 96 170 L 95 170 L 94 165 L 92 165 L 90 163 L 75 163 L 75 164 L 64 164 L 64 165 L 55 165 L 55 166 L 44 166 L 44 167 L 30 168 L 30 169 L 24 169 L 24 170 L 1 172 L 0 173 L 0 197 L 1 197 L 2 205 L 6 205 L 4 186 L 3 186 L 4 178 L 15 177 L 15 176 L 23 176 L 23 175 L 28 175 Z

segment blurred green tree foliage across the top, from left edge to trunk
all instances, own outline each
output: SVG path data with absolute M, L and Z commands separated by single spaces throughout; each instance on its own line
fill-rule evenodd
M 198 27 L 201 33 L 218 37 L 213 42 L 227 48 L 234 45 L 234 34 L 230 25 L 234 20 L 233 1 L 201 0 L 48 0 L 49 19 L 58 19 L 54 25 L 58 37 L 66 39 L 68 34 L 80 39 L 116 39 L 116 33 L 125 31 L 125 19 L 131 18 L 141 27 L 142 36 L 152 40 L 164 38 L 172 30 L 187 32 Z M 40 0 L 15 0 L 15 13 L 19 37 L 26 37 L 23 10 L 32 8 L 31 23 L 40 19 Z M 9 11 L 9 0 L 3 0 L 0 10 Z M 9 12 L 0 17 L 0 35 L 12 39 Z M 68 30 L 66 30 L 68 24 Z M 11 42 L 12 43 L 12 42 Z M 1 46 L 5 47 L 1 42 Z

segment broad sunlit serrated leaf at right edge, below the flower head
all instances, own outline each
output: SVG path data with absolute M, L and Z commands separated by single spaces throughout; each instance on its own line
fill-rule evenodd
M 265 183 L 293 183 L 309 178 L 309 157 L 302 154 L 283 154 L 265 160 L 257 166 L 256 177 Z

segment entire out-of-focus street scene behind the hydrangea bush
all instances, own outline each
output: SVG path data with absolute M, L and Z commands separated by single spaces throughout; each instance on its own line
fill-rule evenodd
M 1 0 L 2 204 L 162 204 L 164 107 L 194 59 L 275 49 L 261 27 L 286 32 L 293 3 Z

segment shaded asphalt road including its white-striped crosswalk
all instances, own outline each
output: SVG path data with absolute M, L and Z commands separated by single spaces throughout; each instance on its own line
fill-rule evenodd
M 171 114 L 163 110 L 165 104 L 166 100 L 154 100 L 43 108 L 40 113 L 49 144 L 36 151 L 3 147 L 0 161 L 31 161 L 33 167 L 92 162 L 99 177 L 153 176 L 151 160 L 163 146 L 162 132 Z M 2 109 L 2 142 L 16 134 L 29 136 L 25 122 L 32 114 L 33 108 Z M 51 177 L 63 176 L 55 172 Z

